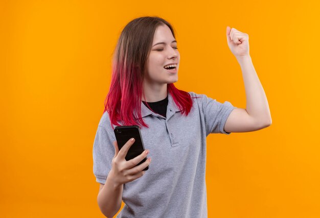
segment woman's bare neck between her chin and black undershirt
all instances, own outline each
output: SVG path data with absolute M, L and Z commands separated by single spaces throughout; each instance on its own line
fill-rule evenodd
M 144 102 L 158 102 L 164 100 L 167 93 L 167 84 L 150 84 L 146 81 L 143 85 L 143 91 L 145 94 L 145 98 L 142 96 L 142 101 Z

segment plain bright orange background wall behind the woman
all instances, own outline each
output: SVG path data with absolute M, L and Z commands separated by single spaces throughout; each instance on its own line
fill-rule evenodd
M 319 1 L 1 1 L 1 217 L 104 217 L 92 149 L 133 18 L 172 23 L 176 86 L 246 107 L 226 26 L 249 35 L 272 125 L 208 136 L 209 217 L 320 217 Z M 152 164 L 152 163 L 151 163 Z

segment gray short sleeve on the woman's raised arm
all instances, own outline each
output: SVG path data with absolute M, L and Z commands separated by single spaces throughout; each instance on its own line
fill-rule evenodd
M 197 100 L 200 106 L 202 105 L 206 135 L 208 136 L 210 133 L 230 135 L 230 132 L 224 131 L 224 125 L 230 113 L 237 107 L 227 101 L 217 102 L 205 94 L 196 94 L 196 96 L 200 97 Z

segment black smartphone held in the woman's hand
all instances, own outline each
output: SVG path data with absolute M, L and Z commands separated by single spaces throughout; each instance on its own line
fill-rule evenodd
M 139 126 L 136 126 L 136 125 L 118 126 L 115 128 L 114 131 L 115 131 L 115 136 L 117 139 L 119 151 L 124 146 L 124 144 L 127 143 L 127 141 L 130 138 L 135 139 L 135 141 L 133 142 L 132 146 L 129 148 L 128 153 L 125 157 L 127 161 L 140 155 L 145 150 Z M 137 166 L 142 164 L 146 160 L 147 160 L 147 157 L 145 157 L 140 163 L 138 163 Z M 146 171 L 148 168 L 149 166 L 147 166 L 143 170 Z

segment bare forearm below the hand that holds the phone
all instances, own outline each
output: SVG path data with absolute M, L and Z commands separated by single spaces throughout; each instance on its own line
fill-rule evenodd
M 116 185 L 108 175 L 107 180 L 98 194 L 98 205 L 107 217 L 113 217 L 121 208 L 123 184 Z

